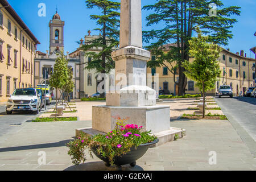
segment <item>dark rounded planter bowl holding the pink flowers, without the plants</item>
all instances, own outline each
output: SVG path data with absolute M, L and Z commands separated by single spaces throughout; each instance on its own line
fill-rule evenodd
M 159 142 L 159 139 L 155 139 L 151 143 L 144 143 L 144 144 L 139 145 L 138 147 L 135 147 L 135 146 L 131 147 L 130 152 L 128 152 L 125 155 L 115 158 L 114 164 L 117 166 L 130 164 L 131 167 L 134 167 L 136 165 L 136 160 L 141 158 L 152 144 L 156 144 L 158 142 Z M 91 150 L 92 150 L 93 154 L 95 154 L 99 159 L 101 159 L 105 162 L 105 166 L 107 166 L 107 167 L 110 166 L 109 159 L 104 158 L 101 155 L 98 155 L 96 147 L 92 147 Z

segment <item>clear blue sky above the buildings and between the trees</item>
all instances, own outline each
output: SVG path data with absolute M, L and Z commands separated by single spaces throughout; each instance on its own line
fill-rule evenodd
M 49 20 L 55 14 L 56 6 L 61 19 L 65 21 L 64 27 L 64 49 L 65 51 L 75 51 L 79 46 L 77 41 L 87 35 L 88 30 L 97 28 L 96 22 L 90 20 L 89 15 L 97 14 L 98 10 L 86 9 L 85 0 L 8 0 L 10 5 L 19 14 L 28 28 L 40 41 L 38 51 L 46 52 L 49 49 Z M 155 3 L 156 0 L 142 0 L 143 5 Z M 244 50 L 247 57 L 254 57 L 250 52 L 250 48 L 256 46 L 256 18 L 255 18 L 255 0 L 222 0 L 224 6 L 240 6 L 241 16 L 235 16 L 238 23 L 234 24 L 233 39 L 229 41 L 229 45 L 224 48 L 230 48 L 230 51 L 236 53 Z M 38 4 L 46 4 L 46 17 L 38 16 Z M 146 16 L 150 11 L 142 11 L 142 28 L 150 30 L 155 27 L 146 27 Z M 97 31 L 92 31 L 91 35 L 98 35 Z

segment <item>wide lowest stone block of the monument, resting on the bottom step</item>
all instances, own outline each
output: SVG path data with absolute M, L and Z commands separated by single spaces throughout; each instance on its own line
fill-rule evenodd
M 170 106 L 93 106 L 92 129 L 108 133 L 115 128 L 115 115 L 129 117 L 127 124 L 143 126 L 145 130 L 159 133 L 170 129 Z

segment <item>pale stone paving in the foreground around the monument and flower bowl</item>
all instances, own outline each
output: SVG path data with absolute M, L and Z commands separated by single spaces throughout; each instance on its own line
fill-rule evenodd
M 116 170 L 106 168 L 94 156 L 73 166 L 65 146 L 75 129 L 91 127 L 91 121 L 26 122 L 18 133 L 7 134 L 0 143 L 0 170 Z M 186 129 L 187 136 L 149 148 L 137 166 L 123 170 L 255 170 L 256 160 L 228 121 L 174 121 L 171 127 Z M 0 140 L 2 137 L 0 137 Z M 46 152 L 46 165 L 39 165 L 39 151 Z M 217 164 L 209 164 L 209 152 L 216 151 Z

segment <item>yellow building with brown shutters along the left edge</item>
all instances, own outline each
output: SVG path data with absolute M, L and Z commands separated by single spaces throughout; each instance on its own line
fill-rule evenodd
M 13 7 L 0 0 L 0 104 L 5 104 L 15 88 L 33 86 L 37 44 Z

